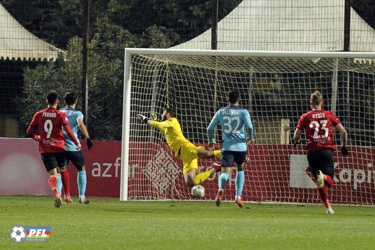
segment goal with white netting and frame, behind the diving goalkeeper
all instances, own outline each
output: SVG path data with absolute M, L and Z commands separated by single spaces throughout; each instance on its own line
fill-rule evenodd
M 226 94 L 236 89 L 254 125 L 248 146 L 243 201 L 320 203 L 307 169 L 305 137 L 293 146 L 298 118 L 309 110 L 310 94 L 323 94 L 348 132 L 349 156 L 341 157 L 335 130 L 333 204 L 375 203 L 375 53 L 265 52 L 125 49 L 121 200 L 193 199 L 182 163 L 157 128 L 143 124 L 167 106 L 176 110 L 184 136 L 207 148 L 207 133 Z M 215 130 L 221 141 L 220 127 Z M 217 149 L 220 148 L 220 143 Z M 218 159 L 198 159 L 199 172 Z M 214 199 L 219 173 L 201 183 Z M 233 200 L 235 168 L 224 200 Z

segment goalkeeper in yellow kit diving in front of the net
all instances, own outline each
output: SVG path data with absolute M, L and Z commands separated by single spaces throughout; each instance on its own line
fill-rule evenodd
M 144 123 L 157 127 L 164 135 L 169 148 L 178 156 L 183 163 L 183 178 L 188 187 L 199 184 L 206 180 L 212 173 L 219 172 L 221 165 L 213 164 L 212 169 L 205 172 L 198 172 L 197 158 L 220 158 L 220 150 L 208 151 L 204 146 L 196 146 L 183 136 L 181 126 L 176 118 L 175 111 L 164 108 L 161 114 L 161 121 L 150 120 L 142 114 L 137 115 Z

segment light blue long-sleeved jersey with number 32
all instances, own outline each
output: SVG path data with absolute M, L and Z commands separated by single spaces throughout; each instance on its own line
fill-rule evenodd
M 214 142 L 213 128 L 220 123 L 222 131 L 222 150 L 247 151 L 244 132 L 246 124 L 247 137 L 252 138 L 252 123 L 247 109 L 237 105 L 222 107 L 213 116 L 207 127 L 208 141 Z

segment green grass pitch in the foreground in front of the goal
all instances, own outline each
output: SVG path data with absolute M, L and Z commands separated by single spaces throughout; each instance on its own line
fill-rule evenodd
M 0 249 L 373 249 L 375 207 L 207 201 L 53 206 L 52 197 L 0 196 Z M 13 242 L 16 225 L 51 226 L 43 242 Z

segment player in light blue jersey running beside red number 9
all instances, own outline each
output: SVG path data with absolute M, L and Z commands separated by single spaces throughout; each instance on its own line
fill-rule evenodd
M 77 96 L 74 93 L 67 92 L 64 97 L 64 103 L 66 106 L 64 108 L 61 108 L 60 111 L 66 114 L 69 125 L 71 129 L 73 130 L 73 133 L 75 137 L 77 138 L 77 140 L 79 141 L 78 134 L 77 134 L 78 128 L 79 128 L 79 130 L 83 133 L 84 137 L 86 138 L 86 144 L 87 144 L 88 149 L 91 149 L 92 141 L 90 137 L 88 136 L 87 128 L 83 123 L 83 114 L 81 111 L 75 109 L 75 105 L 77 104 L 77 101 L 78 101 Z M 64 181 L 66 179 L 65 176 L 66 175 L 68 176 L 66 167 L 69 161 L 71 161 L 73 165 L 75 166 L 75 168 L 78 170 L 78 173 L 77 173 L 77 184 L 78 184 L 78 192 L 79 192 L 78 202 L 88 204 L 90 201 L 86 199 L 86 197 L 84 196 L 84 193 L 86 190 L 86 170 L 84 168 L 84 156 L 82 154 L 82 150 L 75 149 L 75 147 L 71 144 L 72 140 L 69 137 L 67 137 L 65 133 L 64 133 L 64 137 L 65 137 L 65 167 L 63 171 L 61 171 L 61 176 L 62 174 L 64 174 L 64 176 L 61 179 L 62 181 Z M 62 184 L 64 184 L 63 186 L 65 189 L 65 183 L 62 183 Z M 59 187 L 60 186 L 61 185 L 59 185 Z M 66 184 L 66 186 L 69 186 L 69 185 Z M 70 189 L 70 187 L 68 189 Z M 69 195 L 68 199 L 65 196 L 66 203 L 71 202 L 69 191 L 70 190 L 65 190 L 65 195 L 66 195 L 66 192 L 68 192 L 68 195 Z

